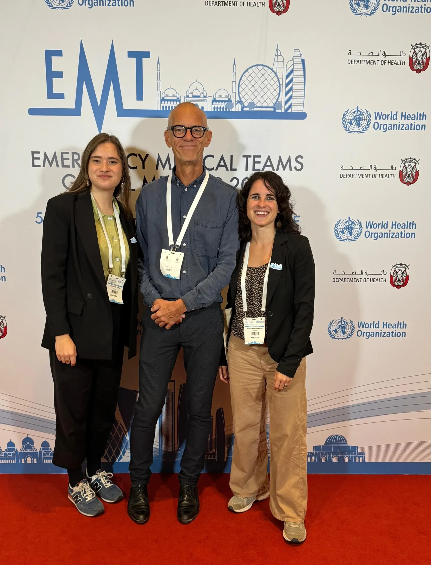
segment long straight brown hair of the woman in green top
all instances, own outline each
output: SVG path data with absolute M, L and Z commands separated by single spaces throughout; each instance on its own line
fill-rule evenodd
M 96 148 L 103 143 L 112 143 L 117 149 L 121 164 L 123 165 L 123 175 L 121 182 L 114 189 L 114 196 L 118 198 L 123 205 L 128 218 L 133 218 L 132 207 L 130 206 L 130 190 L 132 189 L 132 185 L 130 183 L 129 167 L 123 145 L 121 145 L 120 140 L 116 136 L 110 136 L 108 133 L 98 133 L 97 136 L 94 136 L 93 139 L 88 142 L 84 153 L 82 153 L 81 168 L 78 176 L 67 192 L 74 194 L 90 192 L 92 188 L 91 182 L 90 185 L 87 185 L 87 182 L 90 181 L 88 176 L 88 163 Z M 123 184 L 123 188 L 121 188 L 121 184 Z

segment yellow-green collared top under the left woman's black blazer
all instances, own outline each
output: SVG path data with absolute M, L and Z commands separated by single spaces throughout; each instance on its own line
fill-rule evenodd
M 115 200 L 114 200 L 115 202 Z M 93 203 L 93 212 L 94 212 L 94 221 L 96 224 L 96 232 L 97 232 L 97 240 L 99 242 L 99 250 L 101 253 L 102 259 L 102 266 L 103 266 L 103 273 L 105 273 L 105 279 L 108 278 L 109 275 L 109 249 L 108 244 L 106 242 L 105 233 L 103 233 L 103 228 L 101 224 L 101 220 L 99 218 L 99 212 L 97 211 L 97 206 L 92 198 Z M 115 207 L 117 208 L 118 213 L 120 213 L 118 204 L 115 202 Z M 115 215 L 103 214 L 101 210 L 101 216 L 103 221 L 105 222 L 106 233 L 110 238 L 111 247 L 112 247 L 112 275 L 116 275 L 117 277 L 121 276 L 121 249 L 120 249 L 120 241 L 118 238 L 118 231 L 117 231 L 117 223 L 115 221 Z M 121 227 L 123 231 L 124 237 L 124 246 L 126 248 L 126 268 L 129 264 L 130 254 L 129 254 L 129 245 L 127 241 L 127 236 L 124 233 L 123 227 Z

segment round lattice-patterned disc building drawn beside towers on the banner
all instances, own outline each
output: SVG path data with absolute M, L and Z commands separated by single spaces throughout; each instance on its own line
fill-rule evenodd
M 244 71 L 238 82 L 238 95 L 243 107 L 250 110 L 274 110 L 281 93 L 277 73 L 267 65 L 253 65 Z

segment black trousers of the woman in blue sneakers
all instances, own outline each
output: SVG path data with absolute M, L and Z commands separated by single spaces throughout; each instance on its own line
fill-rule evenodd
M 115 420 L 124 343 L 120 339 L 122 306 L 111 303 L 112 360 L 77 358 L 75 367 L 50 351 L 56 416 L 53 463 L 77 469 L 84 459 L 92 467 L 105 453 Z

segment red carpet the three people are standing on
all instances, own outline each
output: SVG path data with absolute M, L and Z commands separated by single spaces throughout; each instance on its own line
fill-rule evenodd
M 117 483 L 129 490 L 127 475 Z M 0 475 L 2 565 L 420 565 L 431 564 L 428 476 L 310 475 L 301 546 L 282 540 L 269 501 L 227 510 L 228 475 L 202 475 L 201 513 L 176 520 L 176 476 L 153 475 L 151 518 L 138 526 L 127 503 L 99 518 L 78 514 L 66 475 Z

